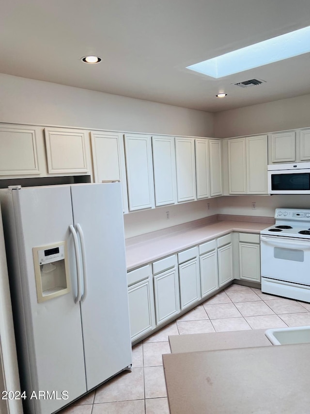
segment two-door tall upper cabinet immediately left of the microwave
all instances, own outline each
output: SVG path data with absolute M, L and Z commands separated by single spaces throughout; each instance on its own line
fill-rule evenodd
M 267 135 L 228 140 L 230 194 L 267 194 Z

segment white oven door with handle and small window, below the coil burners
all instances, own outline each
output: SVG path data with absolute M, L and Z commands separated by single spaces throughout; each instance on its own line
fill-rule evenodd
M 310 285 L 310 239 L 261 235 L 262 277 Z

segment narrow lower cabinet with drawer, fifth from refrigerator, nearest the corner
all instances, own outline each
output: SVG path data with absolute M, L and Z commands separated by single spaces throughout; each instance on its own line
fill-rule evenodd
M 217 239 L 218 285 L 233 281 L 233 248 L 231 234 Z

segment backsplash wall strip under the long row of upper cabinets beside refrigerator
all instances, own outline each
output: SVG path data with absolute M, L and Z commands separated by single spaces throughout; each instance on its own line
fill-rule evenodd
M 217 214 L 217 200 L 218 198 L 205 199 L 125 214 L 125 237 L 134 237 Z M 166 214 L 168 211 L 169 220 Z

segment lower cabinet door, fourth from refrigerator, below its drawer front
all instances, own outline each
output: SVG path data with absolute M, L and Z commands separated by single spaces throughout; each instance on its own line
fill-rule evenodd
M 200 257 L 200 281 L 202 298 L 218 289 L 216 250 L 210 251 Z

